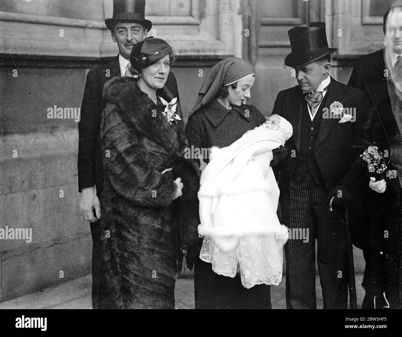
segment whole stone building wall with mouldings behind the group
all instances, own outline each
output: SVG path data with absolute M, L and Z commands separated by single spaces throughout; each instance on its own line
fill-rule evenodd
M 359 16 L 361 8 L 360 1 L 353 5 L 349 0 L 310 0 L 303 2 L 310 7 L 287 18 L 272 6 L 258 11 L 258 1 L 266 2 L 147 0 L 146 17 L 154 23 L 150 34 L 172 41 L 178 53 L 172 71 L 185 122 L 204 76 L 226 55 L 256 63 L 251 103 L 269 115 L 277 92 L 295 84 L 290 69 L 283 67 L 290 50 L 287 27 L 306 18 L 324 20 L 330 45 L 345 45 L 332 26 L 342 15 Z M 104 24 L 112 15 L 112 3 L 3 0 L 0 4 L 0 229 L 32 229 L 31 242 L 0 240 L 0 301 L 90 272 L 90 229 L 79 215 L 77 123 L 48 119 L 47 109 L 80 107 L 88 70 L 117 55 Z M 293 15 L 291 6 L 288 9 Z M 377 26 L 367 27 L 369 32 L 379 29 L 375 41 L 380 41 L 381 26 L 375 20 Z M 245 29 L 250 36 L 244 36 Z M 258 30 L 263 36 L 260 42 Z M 365 52 L 375 46 L 368 45 Z M 335 60 L 336 79 L 347 82 L 354 59 L 363 53 L 359 48 L 354 55 Z M 357 249 L 355 255 L 356 271 L 362 272 L 364 261 Z

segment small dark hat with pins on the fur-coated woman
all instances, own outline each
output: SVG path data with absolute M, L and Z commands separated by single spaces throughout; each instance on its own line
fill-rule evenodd
M 165 40 L 150 36 L 133 46 L 130 63 L 134 69 L 141 71 L 171 51 L 172 47 Z

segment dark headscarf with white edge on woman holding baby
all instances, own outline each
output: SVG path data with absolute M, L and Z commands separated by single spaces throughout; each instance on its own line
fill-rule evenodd
M 205 77 L 190 115 L 211 102 L 222 85 L 228 86 L 250 75 L 254 75 L 254 68 L 241 58 L 231 57 L 218 62 Z

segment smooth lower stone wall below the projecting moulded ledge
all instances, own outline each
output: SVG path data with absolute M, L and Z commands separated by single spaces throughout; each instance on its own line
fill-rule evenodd
M 172 71 L 187 122 L 203 81 L 199 70 L 210 67 L 185 63 Z M 90 272 L 90 228 L 79 214 L 78 123 L 47 118 L 54 105 L 81 106 L 89 68 L 42 66 L 18 67 L 17 77 L 13 65 L 0 68 L 0 228 L 32 228 L 32 242 L 0 240 L 0 300 Z

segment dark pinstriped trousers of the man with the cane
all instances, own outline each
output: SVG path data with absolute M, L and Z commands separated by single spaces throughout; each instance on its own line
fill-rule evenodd
M 285 244 L 286 306 L 316 309 L 315 241 L 324 309 L 347 308 L 343 210 L 329 212 L 324 185 L 316 185 L 310 172 L 298 182 L 290 178 L 281 198 L 283 223 L 290 237 Z M 301 229 L 294 230 L 295 228 Z M 308 232 L 307 232 L 308 229 Z M 308 233 L 306 239 L 297 233 Z M 294 237 L 292 237 L 292 234 Z

